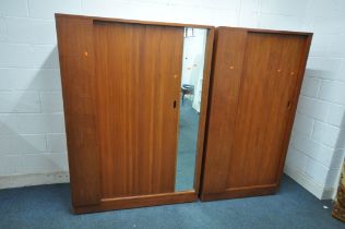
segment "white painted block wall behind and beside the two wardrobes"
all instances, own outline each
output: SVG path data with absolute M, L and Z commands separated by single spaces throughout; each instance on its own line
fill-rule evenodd
M 68 170 L 56 12 L 313 32 L 285 171 L 330 197 L 345 154 L 345 1 L 1 0 L 0 177 Z

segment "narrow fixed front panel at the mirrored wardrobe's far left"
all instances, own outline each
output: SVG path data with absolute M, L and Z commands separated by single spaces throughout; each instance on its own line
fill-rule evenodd
M 56 23 L 72 204 L 97 204 L 100 201 L 100 173 L 93 22 L 57 16 Z

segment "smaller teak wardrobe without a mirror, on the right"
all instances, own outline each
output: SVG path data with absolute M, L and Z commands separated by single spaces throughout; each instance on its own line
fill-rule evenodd
M 311 34 L 218 27 L 201 200 L 278 188 Z

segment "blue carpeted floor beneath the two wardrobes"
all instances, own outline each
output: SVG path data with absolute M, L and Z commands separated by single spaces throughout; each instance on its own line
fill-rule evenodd
M 345 228 L 321 202 L 284 177 L 275 195 L 85 215 L 70 213 L 70 185 L 0 190 L 0 228 Z

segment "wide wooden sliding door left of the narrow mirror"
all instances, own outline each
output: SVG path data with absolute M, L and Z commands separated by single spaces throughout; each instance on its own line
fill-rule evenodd
M 103 197 L 174 192 L 183 28 L 97 22 L 94 41 Z

